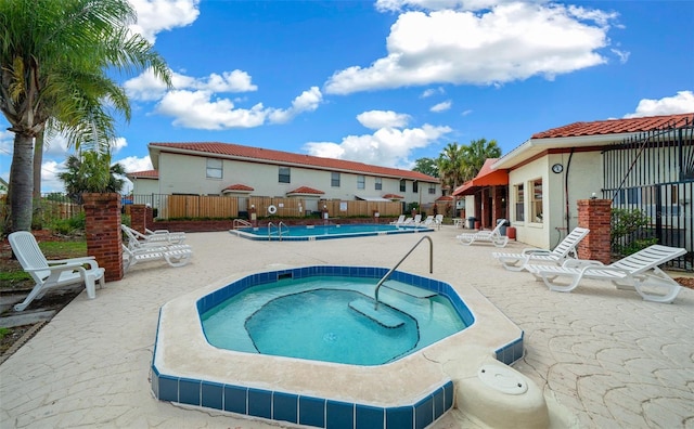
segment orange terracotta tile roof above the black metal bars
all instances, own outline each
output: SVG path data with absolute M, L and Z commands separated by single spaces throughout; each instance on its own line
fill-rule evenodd
M 667 116 L 648 116 L 629 119 L 595 120 L 592 122 L 574 122 L 567 126 L 538 132 L 532 139 L 570 138 L 582 135 L 620 134 L 628 132 L 651 131 L 668 126 L 682 126 L 689 119 L 694 120 L 694 113 Z

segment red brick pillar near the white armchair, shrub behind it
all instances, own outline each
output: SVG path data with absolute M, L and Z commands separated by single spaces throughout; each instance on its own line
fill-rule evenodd
M 83 194 L 87 218 L 87 255 L 106 270 L 106 282 L 123 278 L 120 195 Z

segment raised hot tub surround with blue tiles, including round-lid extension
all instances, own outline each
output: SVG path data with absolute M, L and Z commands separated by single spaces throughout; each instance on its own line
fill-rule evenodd
M 464 298 L 434 278 L 398 271 L 390 277 L 448 297 L 460 314 L 468 312 L 468 326 L 387 364 L 232 351 L 205 337 L 201 314 L 255 286 L 310 276 L 375 283 L 386 272 L 318 265 L 245 273 L 167 302 L 159 312 L 151 366 L 154 396 L 314 427 L 419 429 L 452 406 L 487 421 L 503 418 L 542 426 L 548 414 L 542 391 L 504 365 L 523 355 L 523 332 L 478 292 L 471 290 Z M 385 289 L 382 294 L 389 295 Z

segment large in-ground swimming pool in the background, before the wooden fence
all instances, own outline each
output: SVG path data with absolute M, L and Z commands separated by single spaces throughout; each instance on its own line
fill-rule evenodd
M 378 223 L 327 224 L 327 225 L 285 225 L 242 227 L 230 230 L 232 234 L 249 239 L 265 240 L 313 240 L 329 238 L 364 237 L 370 235 L 412 234 L 432 232 L 434 229 L 424 225 L 390 225 Z

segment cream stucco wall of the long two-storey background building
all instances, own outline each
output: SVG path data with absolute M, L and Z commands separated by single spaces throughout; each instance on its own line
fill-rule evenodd
M 435 193 L 429 194 L 429 183 L 420 182 L 419 192 L 412 192 L 412 181 L 408 180 L 406 192 L 400 191 L 399 179 L 382 178 L 382 190 L 375 190 L 376 178 L 364 174 L 364 188 L 358 185 L 358 176 L 340 172 L 339 187 L 331 185 L 331 171 L 291 167 L 291 183 L 279 183 L 277 165 L 223 160 L 222 178 L 206 178 L 207 158 L 170 153 L 159 154 L 159 190 L 162 194 L 220 195 L 231 184 L 245 184 L 254 188 L 257 196 L 285 196 L 299 186 L 309 186 L 325 194 L 327 199 L 355 199 L 381 197 L 385 194 L 402 195 L 407 203 L 428 204 L 441 195 L 440 184 L 435 184 Z

